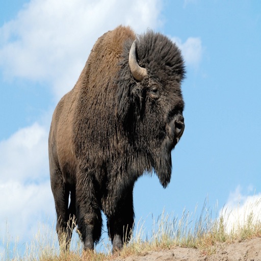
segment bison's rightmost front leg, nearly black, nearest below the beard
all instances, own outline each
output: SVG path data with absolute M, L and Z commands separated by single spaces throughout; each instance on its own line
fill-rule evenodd
M 124 192 L 124 194 L 116 206 L 115 214 L 107 216 L 107 227 L 113 244 L 113 252 L 120 250 L 132 236 L 134 225 L 133 189 Z

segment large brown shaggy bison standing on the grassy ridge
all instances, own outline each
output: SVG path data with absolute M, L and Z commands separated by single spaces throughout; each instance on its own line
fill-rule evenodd
M 75 217 L 84 249 L 93 249 L 101 236 L 101 211 L 113 251 L 129 240 L 135 181 L 154 171 L 164 188 L 170 182 L 171 150 L 185 127 L 185 73 L 180 50 L 160 33 L 136 36 L 119 26 L 98 38 L 50 126 L 60 245 L 66 234 L 69 247 Z

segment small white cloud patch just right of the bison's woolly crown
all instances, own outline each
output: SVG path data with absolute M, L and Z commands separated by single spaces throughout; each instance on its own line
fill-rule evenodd
M 189 37 L 185 43 L 177 37 L 173 37 L 172 41 L 181 49 L 182 55 L 187 65 L 197 68 L 202 59 L 202 43 L 199 37 Z

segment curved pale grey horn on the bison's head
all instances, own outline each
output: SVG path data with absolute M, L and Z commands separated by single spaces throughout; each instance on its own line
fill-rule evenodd
M 129 68 L 137 81 L 142 81 L 143 78 L 147 75 L 147 70 L 140 67 L 137 62 L 136 57 L 136 40 L 133 42 L 131 49 L 129 50 L 128 56 Z

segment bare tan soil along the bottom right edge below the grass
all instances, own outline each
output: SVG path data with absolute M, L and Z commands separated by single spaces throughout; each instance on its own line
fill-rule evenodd
M 198 249 L 175 247 L 164 251 L 151 251 L 141 255 L 128 256 L 117 261 L 261 261 L 261 238 L 233 243 L 219 243 L 213 247 L 213 254 L 206 255 Z

